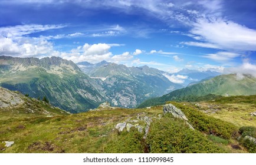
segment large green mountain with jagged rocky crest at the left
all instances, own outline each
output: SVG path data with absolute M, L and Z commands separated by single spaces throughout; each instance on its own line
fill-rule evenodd
M 46 96 L 52 105 L 71 113 L 105 101 L 95 84 L 74 62 L 60 57 L 0 57 L 0 86 L 34 98 Z

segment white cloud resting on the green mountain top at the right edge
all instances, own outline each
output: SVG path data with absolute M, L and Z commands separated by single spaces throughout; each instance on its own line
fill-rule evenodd
M 252 75 L 253 77 L 256 77 L 256 65 L 245 60 L 243 64 L 238 67 L 225 68 L 224 72 L 227 74 L 237 74 L 239 80 L 244 78 L 244 75 Z

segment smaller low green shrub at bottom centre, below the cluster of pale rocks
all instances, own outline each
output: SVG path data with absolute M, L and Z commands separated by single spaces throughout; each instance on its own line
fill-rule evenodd
M 106 153 L 144 153 L 145 142 L 143 133 L 139 133 L 136 128 L 130 128 L 130 132 L 116 132 L 117 138 L 114 138 L 105 148 Z

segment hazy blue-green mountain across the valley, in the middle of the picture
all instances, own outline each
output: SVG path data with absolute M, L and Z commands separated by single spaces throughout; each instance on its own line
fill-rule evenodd
M 170 82 L 163 71 L 147 66 L 126 67 L 106 61 L 97 64 L 79 62 L 77 65 L 98 81 L 100 93 L 115 106 L 136 107 L 147 98 L 182 88 L 182 85 Z

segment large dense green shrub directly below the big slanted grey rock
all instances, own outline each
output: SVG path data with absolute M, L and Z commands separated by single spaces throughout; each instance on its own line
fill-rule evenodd
M 146 141 L 150 153 L 224 153 L 199 131 L 170 115 L 153 121 Z

